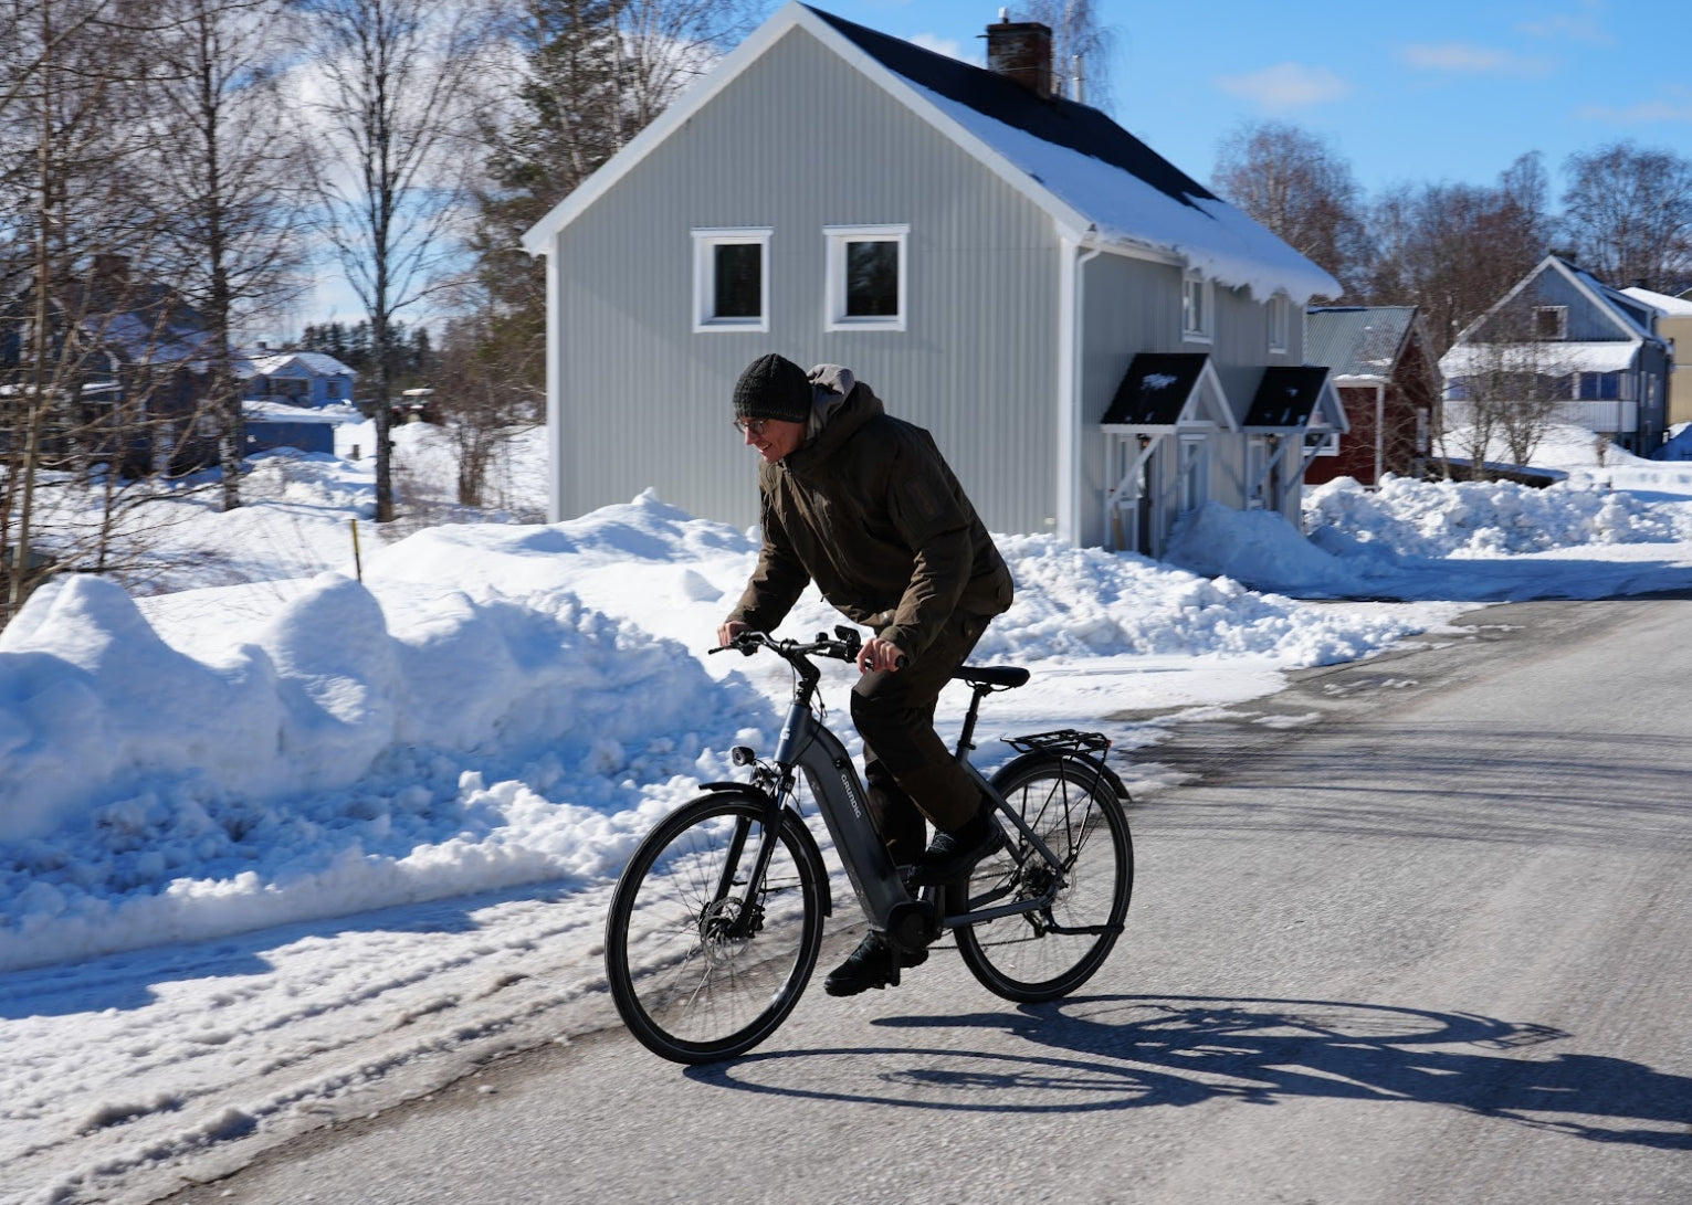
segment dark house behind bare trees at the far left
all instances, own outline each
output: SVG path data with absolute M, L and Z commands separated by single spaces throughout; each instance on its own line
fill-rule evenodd
M 0 392 L 34 389 L 34 286 L 0 303 Z M 205 411 L 215 340 L 195 306 L 95 255 L 88 272 L 47 296 L 52 397 L 39 451 L 46 463 L 110 461 L 129 475 L 190 472 L 217 458 Z

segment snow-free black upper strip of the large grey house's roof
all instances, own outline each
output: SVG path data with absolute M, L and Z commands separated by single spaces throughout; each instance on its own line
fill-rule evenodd
M 805 5 L 809 8 L 809 5 Z M 1096 108 L 1063 96 L 1042 100 L 1032 91 L 986 68 L 970 66 L 914 42 L 854 25 L 821 8 L 810 8 L 838 29 L 858 49 L 888 71 L 937 91 L 948 100 L 992 117 L 995 122 L 1032 134 L 1036 139 L 1079 150 L 1113 167 L 1137 176 L 1159 193 L 1191 204 L 1193 198 L 1213 201 L 1217 196 Z

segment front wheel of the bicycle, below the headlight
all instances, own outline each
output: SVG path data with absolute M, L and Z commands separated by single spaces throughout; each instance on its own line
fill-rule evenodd
M 751 791 L 694 799 L 629 859 L 606 919 L 606 975 L 629 1031 L 677 1063 L 743 1055 L 799 1002 L 822 941 L 800 823 Z M 753 862 L 772 843 L 763 881 Z

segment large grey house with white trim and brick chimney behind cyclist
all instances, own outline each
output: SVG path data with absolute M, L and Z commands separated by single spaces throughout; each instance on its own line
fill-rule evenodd
M 656 487 L 755 522 L 729 395 L 777 350 L 927 428 L 993 531 L 1159 554 L 1206 500 L 1296 521 L 1345 424 L 1296 319 L 1337 282 L 1054 95 L 1044 25 L 986 39 L 981 69 L 788 3 L 526 233 L 553 519 Z

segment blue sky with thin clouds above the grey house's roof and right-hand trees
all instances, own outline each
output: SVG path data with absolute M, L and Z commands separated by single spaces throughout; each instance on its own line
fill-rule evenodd
M 848 20 L 981 61 L 981 0 L 814 0 Z M 1327 137 L 1367 194 L 1496 183 L 1540 150 L 1552 203 L 1570 152 L 1618 139 L 1692 157 L 1692 2 L 1347 3 L 1100 0 L 1115 32 L 1108 112 L 1210 183 L 1245 120 Z

